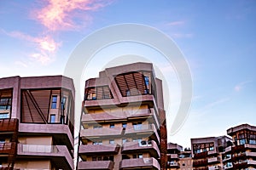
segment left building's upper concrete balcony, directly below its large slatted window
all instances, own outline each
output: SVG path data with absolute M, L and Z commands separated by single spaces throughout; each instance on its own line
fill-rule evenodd
M 68 125 L 65 124 L 38 124 L 38 123 L 20 123 L 19 133 L 44 133 L 54 135 L 56 139 L 67 144 L 70 150 L 73 150 L 73 135 Z

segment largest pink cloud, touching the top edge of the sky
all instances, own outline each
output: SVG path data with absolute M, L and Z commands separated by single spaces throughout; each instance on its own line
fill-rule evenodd
M 50 31 L 73 30 L 78 28 L 76 19 L 90 21 L 90 14 L 78 14 L 78 11 L 96 11 L 111 1 L 98 0 L 47 0 L 44 8 L 36 12 L 36 20 Z

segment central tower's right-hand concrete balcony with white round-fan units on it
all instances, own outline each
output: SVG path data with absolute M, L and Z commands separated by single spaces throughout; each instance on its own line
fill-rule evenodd
M 160 157 L 160 150 L 154 140 L 138 142 L 125 142 L 122 147 L 122 154 L 149 152 L 154 157 Z

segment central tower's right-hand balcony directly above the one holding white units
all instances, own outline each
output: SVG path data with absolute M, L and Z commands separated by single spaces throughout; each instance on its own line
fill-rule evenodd
M 143 134 L 147 137 L 152 136 L 154 137 L 154 139 L 160 142 L 160 137 L 154 124 L 127 126 L 125 129 L 125 135 L 134 135 L 134 134 Z

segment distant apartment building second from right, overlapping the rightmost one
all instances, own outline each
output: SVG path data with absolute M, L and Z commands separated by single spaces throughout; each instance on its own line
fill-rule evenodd
M 227 136 L 191 139 L 194 169 L 222 169 L 223 152 L 231 140 Z

